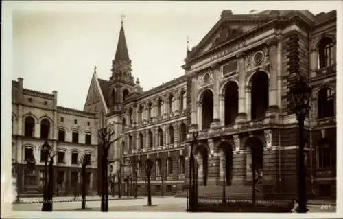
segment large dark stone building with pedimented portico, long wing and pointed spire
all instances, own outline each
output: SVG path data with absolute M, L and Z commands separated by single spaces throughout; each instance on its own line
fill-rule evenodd
M 106 113 L 100 124 L 122 137 L 111 151 L 111 181 L 121 176 L 123 194 L 132 194 L 137 179 L 144 194 L 150 159 L 153 194 L 182 191 L 190 133 L 198 131 L 200 188 L 222 185 L 222 159 L 227 185 L 250 187 L 254 161 L 261 192 L 296 196 L 298 124 L 289 87 L 301 74 L 314 88 L 305 121 L 308 194 L 335 196 L 335 38 L 335 11 L 224 10 L 187 50 L 185 74 L 143 92 L 121 27 L 110 80 L 95 74 L 91 82 L 101 101 L 84 108 Z

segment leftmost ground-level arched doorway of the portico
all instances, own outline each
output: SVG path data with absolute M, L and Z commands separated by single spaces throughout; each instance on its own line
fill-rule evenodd
M 209 172 L 209 151 L 204 145 L 198 145 L 196 148 L 196 171 L 198 169 L 199 185 L 207 185 L 207 176 Z

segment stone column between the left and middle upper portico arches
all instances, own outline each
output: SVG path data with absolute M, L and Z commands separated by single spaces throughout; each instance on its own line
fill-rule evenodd
M 219 95 L 220 95 L 220 65 L 213 65 L 213 125 L 217 126 L 220 122 Z

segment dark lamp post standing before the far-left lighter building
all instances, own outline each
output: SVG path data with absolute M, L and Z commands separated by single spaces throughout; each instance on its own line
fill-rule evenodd
M 47 159 L 49 158 L 49 153 L 51 152 L 51 146 L 47 141 L 41 146 L 44 154 L 44 192 L 43 192 L 43 207 L 42 211 L 52 211 L 52 200 L 51 200 L 51 178 L 48 181 L 47 178 Z M 50 161 L 51 162 L 51 161 Z M 50 166 L 50 165 L 49 165 Z M 49 172 L 51 172 L 49 167 Z M 50 175 L 50 174 L 49 174 Z M 48 185 L 49 183 L 49 185 Z

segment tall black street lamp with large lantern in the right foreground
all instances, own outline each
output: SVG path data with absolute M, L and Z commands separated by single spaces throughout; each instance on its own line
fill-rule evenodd
M 305 187 L 305 165 L 304 165 L 304 146 L 305 140 L 303 136 L 304 122 L 307 112 L 309 111 L 309 100 L 311 97 L 311 87 L 304 81 L 303 76 L 297 74 L 297 81 L 294 87 L 290 89 L 292 96 L 292 104 L 294 107 L 294 113 L 296 113 L 296 119 L 299 126 L 299 167 L 298 167 L 298 207 L 296 211 L 298 213 L 306 213 L 308 211 L 306 207 L 306 187 Z

